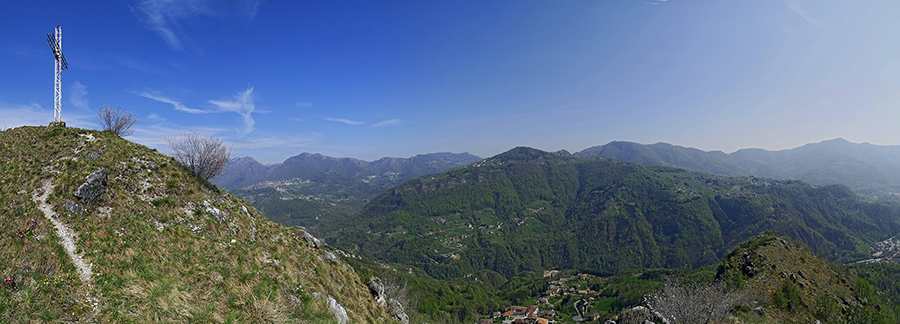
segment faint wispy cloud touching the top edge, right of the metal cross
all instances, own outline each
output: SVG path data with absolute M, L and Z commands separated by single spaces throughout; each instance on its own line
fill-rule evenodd
M 259 1 L 144 0 L 132 12 L 170 47 L 182 50 L 181 22 L 198 16 L 243 16 L 253 19 Z

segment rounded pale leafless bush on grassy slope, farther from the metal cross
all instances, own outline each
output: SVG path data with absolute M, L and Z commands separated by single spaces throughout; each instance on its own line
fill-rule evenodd
M 167 137 L 166 143 L 178 163 L 203 180 L 209 180 L 225 171 L 231 158 L 231 149 L 215 136 L 204 137 L 191 130 L 179 137 Z

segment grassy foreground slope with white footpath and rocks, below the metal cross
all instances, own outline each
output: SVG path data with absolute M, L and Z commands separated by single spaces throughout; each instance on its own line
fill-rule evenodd
M 110 133 L 0 132 L 0 193 L 2 322 L 391 322 L 302 229 Z

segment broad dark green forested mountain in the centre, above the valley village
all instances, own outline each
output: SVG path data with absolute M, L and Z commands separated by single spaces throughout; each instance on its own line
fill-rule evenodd
M 721 177 L 516 148 L 413 179 L 368 204 L 337 245 L 438 278 L 487 269 L 619 273 L 715 264 L 766 230 L 835 261 L 900 232 L 900 209 L 843 186 Z

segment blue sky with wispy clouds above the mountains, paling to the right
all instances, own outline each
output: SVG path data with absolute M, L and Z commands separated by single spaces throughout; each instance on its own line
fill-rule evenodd
M 4 1 L 0 128 L 140 119 L 233 155 L 374 160 L 613 140 L 900 144 L 900 2 Z

